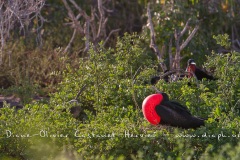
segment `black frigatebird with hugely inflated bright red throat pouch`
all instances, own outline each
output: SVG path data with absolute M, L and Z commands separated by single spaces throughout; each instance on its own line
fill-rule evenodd
M 184 129 L 204 125 L 203 118 L 192 116 L 189 110 L 178 102 L 171 101 L 166 93 L 152 94 L 142 104 L 145 119 L 153 125 L 169 125 Z

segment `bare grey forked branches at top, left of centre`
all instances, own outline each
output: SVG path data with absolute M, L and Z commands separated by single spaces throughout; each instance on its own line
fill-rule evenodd
M 64 3 L 65 8 L 68 11 L 69 17 L 72 22 L 65 23 L 68 25 L 72 25 L 74 29 L 77 29 L 77 31 L 80 31 L 81 34 L 85 36 L 85 48 L 84 52 L 87 52 L 90 48 L 90 42 L 95 46 L 100 42 L 101 40 L 104 40 L 104 45 L 109 40 L 110 36 L 119 31 L 118 29 L 113 30 L 109 33 L 108 37 L 106 35 L 106 24 L 108 21 L 108 18 L 105 17 L 105 8 L 103 6 L 103 1 L 98 0 L 98 6 L 93 7 L 91 6 L 91 16 L 87 15 L 85 10 L 82 10 L 80 6 L 75 2 L 75 0 L 62 0 Z M 69 6 L 69 1 L 73 5 L 73 9 L 76 9 L 79 13 L 77 13 L 77 16 L 74 15 L 73 9 Z M 96 11 L 98 9 L 98 12 Z M 76 14 L 76 13 L 75 13 Z M 82 17 L 80 19 L 80 17 Z M 81 22 L 81 23 L 80 23 Z M 83 25 L 84 24 L 84 25 Z M 70 40 L 68 46 L 66 47 L 65 51 L 69 49 L 70 44 L 72 43 L 75 33 L 73 32 L 72 39 Z

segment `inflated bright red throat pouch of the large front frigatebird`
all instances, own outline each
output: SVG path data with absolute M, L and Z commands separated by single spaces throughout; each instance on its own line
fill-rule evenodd
M 142 103 L 142 112 L 145 119 L 153 125 L 161 122 L 161 117 L 157 114 L 155 108 L 163 101 L 162 94 L 152 94 L 147 96 Z

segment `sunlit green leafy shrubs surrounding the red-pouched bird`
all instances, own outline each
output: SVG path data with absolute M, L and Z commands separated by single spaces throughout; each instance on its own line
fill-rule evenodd
M 239 159 L 239 53 L 207 57 L 205 66 L 214 67 L 216 81 L 156 85 L 194 115 L 208 118 L 205 126 L 150 126 L 140 107 L 154 93 L 146 82 L 155 62 L 141 48 L 141 38 L 126 34 L 116 48 L 92 48 L 87 59 L 79 59 L 78 69 L 69 66 L 64 72 L 49 103 L 35 102 L 22 110 L 5 104 L 0 158 Z M 71 103 L 84 85 L 78 103 Z M 82 111 L 75 119 L 70 110 L 76 105 Z

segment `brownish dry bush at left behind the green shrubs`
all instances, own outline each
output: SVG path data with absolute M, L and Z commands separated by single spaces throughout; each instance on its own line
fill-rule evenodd
M 36 94 L 45 96 L 56 90 L 55 85 L 62 80 L 62 72 L 69 61 L 72 67 L 77 65 L 74 60 L 77 55 L 69 58 L 62 54 L 61 48 L 53 51 L 41 49 L 29 51 L 21 43 L 26 43 L 25 39 L 16 40 L 12 44 L 13 48 L 9 49 L 11 55 L 3 56 L 4 64 L 1 65 L 0 72 L 1 94 L 16 94 L 21 98 L 23 96 L 32 98 Z M 24 90 L 24 88 L 24 93 L 17 91 L 18 89 Z

